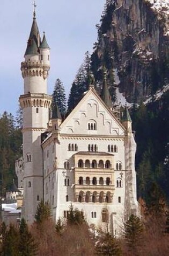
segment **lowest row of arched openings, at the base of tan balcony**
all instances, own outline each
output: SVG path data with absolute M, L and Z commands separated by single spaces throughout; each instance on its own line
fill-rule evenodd
M 87 191 L 86 193 L 80 191 L 77 200 L 79 203 L 112 203 L 112 196 L 109 191 L 107 193 L 104 193 L 104 191 L 101 191 L 100 193 L 97 191 L 94 191 L 93 193 L 90 191 Z

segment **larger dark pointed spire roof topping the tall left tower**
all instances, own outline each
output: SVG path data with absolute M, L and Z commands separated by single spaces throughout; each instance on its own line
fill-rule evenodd
M 40 37 L 40 34 L 39 34 L 38 24 L 36 22 L 36 14 L 34 10 L 33 23 L 31 27 L 30 37 L 27 41 L 27 48 L 25 51 L 25 55 L 38 54 L 38 36 Z

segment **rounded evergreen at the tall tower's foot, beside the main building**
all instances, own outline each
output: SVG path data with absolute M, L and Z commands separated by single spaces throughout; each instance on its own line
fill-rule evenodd
M 35 220 L 37 224 L 43 223 L 45 220 L 50 219 L 51 216 L 51 209 L 48 202 L 43 202 L 43 200 L 40 201 L 40 203 L 37 206 L 36 214 L 35 214 Z

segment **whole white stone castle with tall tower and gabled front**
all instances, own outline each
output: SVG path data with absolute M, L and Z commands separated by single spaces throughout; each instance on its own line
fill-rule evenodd
M 24 58 L 24 94 L 19 98 L 23 160 L 16 164 L 24 166 L 24 175 L 18 172 L 24 176 L 23 185 L 19 184 L 24 186 L 22 216 L 32 223 L 43 199 L 49 202 L 55 222 L 64 221 L 72 204 L 87 223 L 118 234 L 123 220 L 138 214 L 136 143 L 127 107 L 119 121 L 105 78 L 101 98 L 90 85 L 65 120 L 57 105 L 49 119 L 50 48 L 45 33 L 41 41 L 35 11 Z

